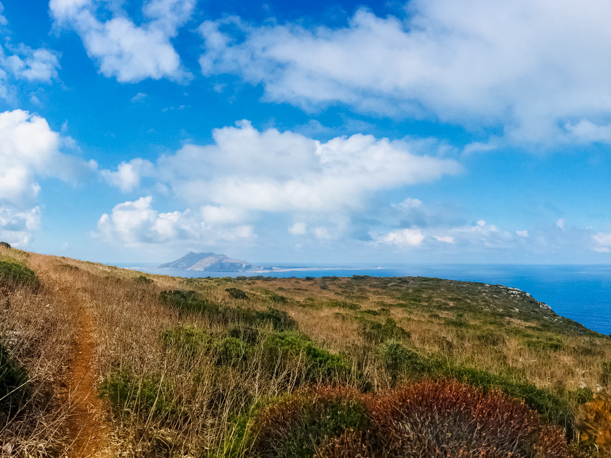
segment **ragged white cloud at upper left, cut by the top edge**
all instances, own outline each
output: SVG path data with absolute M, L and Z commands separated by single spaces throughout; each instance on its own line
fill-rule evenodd
M 181 65 L 170 42 L 186 23 L 195 0 L 150 0 L 142 7 L 145 21 L 136 25 L 122 10 L 112 18 L 97 17 L 93 0 L 51 0 L 49 10 L 56 24 L 74 29 L 100 73 L 119 82 L 169 78 L 186 81 L 191 75 Z M 108 16 L 108 12 L 104 16 Z

